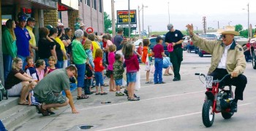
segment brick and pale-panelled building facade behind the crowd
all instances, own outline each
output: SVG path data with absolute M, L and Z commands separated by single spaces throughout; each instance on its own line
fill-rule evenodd
M 23 11 L 34 17 L 36 25 L 34 34 L 39 39 L 39 28 L 46 25 L 57 25 L 61 20 L 65 27 L 74 28 L 77 17 L 93 28 L 98 34 L 104 31 L 102 0 L 0 0 L 0 34 L 1 27 L 8 19 L 18 20 L 18 12 Z M 4 83 L 2 54 L 2 35 L 0 35 L 0 80 Z

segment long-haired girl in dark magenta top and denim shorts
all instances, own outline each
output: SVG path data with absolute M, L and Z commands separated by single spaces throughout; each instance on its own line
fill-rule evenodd
M 140 70 L 138 57 L 133 53 L 132 44 L 126 44 L 125 46 L 124 63 L 127 66 L 127 82 L 129 83 L 127 87 L 128 100 L 140 100 L 140 98 L 135 98 L 134 96 L 136 74 Z

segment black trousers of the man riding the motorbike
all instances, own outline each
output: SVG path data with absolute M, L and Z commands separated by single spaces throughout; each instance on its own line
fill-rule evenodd
M 214 76 L 214 79 L 222 79 L 227 73 L 226 69 L 222 69 L 222 68 L 216 68 L 214 70 L 214 72 L 212 72 L 211 74 L 209 74 L 209 76 Z M 228 77 L 227 79 L 225 79 L 225 81 L 222 83 L 222 85 L 233 85 L 236 86 L 236 90 L 235 90 L 235 99 L 237 100 L 243 100 L 243 92 L 244 92 L 244 88 L 247 84 L 247 79 L 246 76 L 244 76 L 243 74 L 238 75 L 238 77 L 234 77 L 233 79 L 230 79 L 230 77 Z M 219 86 L 222 86 L 221 84 Z

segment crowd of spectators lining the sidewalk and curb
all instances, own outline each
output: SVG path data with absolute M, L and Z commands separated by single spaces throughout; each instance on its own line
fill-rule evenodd
M 75 23 L 72 28 L 64 28 L 62 23 L 39 28 L 39 40 L 33 33 L 35 20 L 20 12 L 18 21 L 7 20 L 3 28 L 3 55 L 5 89 L 10 96 L 20 96 L 20 105 L 36 106 L 43 116 L 54 114 L 51 108 L 66 106 L 76 114 L 70 83 L 76 83 L 77 100 L 87 99 L 89 95 L 107 95 L 103 86 L 109 86 L 116 96 L 127 95 L 127 100 L 140 100 L 135 95 L 136 75 L 139 62 L 147 65 L 155 57 L 154 84 L 163 84 L 162 68 L 165 76 L 170 74 L 172 64 L 165 55 L 162 38 L 157 37 L 157 46 L 149 49 L 150 41 L 143 39 L 139 49 L 123 36 L 118 28 L 117 35 L 102 37 L 87 33 L 84 24 Z M 142 47 L 143 45 L 143 47 Z M 146 69 L 146 84 L 151 84 Z M 104 83 L 104 77 L 110 81 Z M 95 80 L 95 82 L 94 82 Z M 92 90 L 95 86 L 96 90 Z M 121 92 L 121 87 L 126 87 Z M 84 90 L 84 91 L 83 91 Z M 64 91 L 65 95 L 61 95 Z

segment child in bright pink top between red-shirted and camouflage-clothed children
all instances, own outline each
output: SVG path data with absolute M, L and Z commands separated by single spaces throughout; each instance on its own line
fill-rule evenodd
M 116 51 L 116 45 L 111 44 L 108 49 L 108 71 L 110 73 L 110 81 L 109 81 L 109 91 L 110 92 L 116 92 L 116 83 L 113 78 L 113 64 L 115 63 L 115 51 Z

